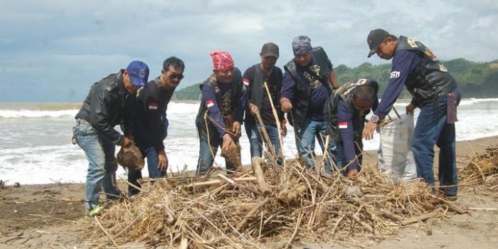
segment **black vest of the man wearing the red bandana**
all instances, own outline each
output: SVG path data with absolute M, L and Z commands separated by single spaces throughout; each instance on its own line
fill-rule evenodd
M 238 84 L 240 83 L 240 80 L 242 80 L 242 75 L 240 74 L 240 70 L 238 70 L 238 68 L 234 68 L 233 78 L 232 78 L 231 82 L 229 83 L 232 96 L 228 100 L 220 100 L 220 96 L 219 96 L 218 92 L 216 92 L 217 88 L 218 88 L 218 84 L 220 84 L 220 83 L 218 83 L 216 81 L 216 78 L 214 77 L 214 75 L 211 75 L 206 80 L 204 80 L 204 82 L 201 83 L 201 85 L 199 85 L 199 88 L 201 88 L 201 92 L 202 92 L 202 88 L 205 85 L 208 85 L 215 90 L 216 101 L 218 102 L 218 106 L 220 107 L 220 111 L 223 114 L 223 117 L 225 117 L 226 115 L 229 115 L 229 114 L 235 112 L 235 103 L 238 102 L 237 93 L 239 90 Z M 197 126 L 201 126 L 201 127 L 204 126 L 203 117 L 204 117 L 204 113 L 206 113 L 207 110 L 208 110 L 208 107 L 206 106 L 206 103 L 203 102 L 203 96 L 201 96 L 201 105 L 199 106 L 199 110 L 197 112 L 197 117 L 196 117 L 196 125 Z

